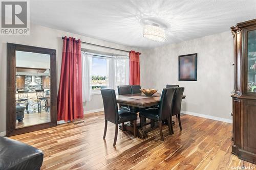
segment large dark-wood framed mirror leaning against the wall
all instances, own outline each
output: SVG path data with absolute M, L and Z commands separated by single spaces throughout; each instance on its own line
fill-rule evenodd
M 7 43 L 7 136 L 57 126 L 56 50 Z

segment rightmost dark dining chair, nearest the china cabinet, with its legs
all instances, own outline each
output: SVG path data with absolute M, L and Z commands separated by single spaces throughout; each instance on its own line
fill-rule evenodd
M 181 120 L 180 120 L 180 110 L 181 110 L 182 96 L 183 96 L 183 92 L 184 92 L 185 88 L 184 87 L 177 87 L 175 89 L 176 89 L 176 92 L 174 94 L 172 116 L 174 116 L 174 115 L 177 116 L 178 115 L 180 130 L 182 130 Z M 172 116 L 170 116 L 170 121 L 172 121 Z M 172 133 L 174 134 L 173 124 L 171 126 L 172 126 Z

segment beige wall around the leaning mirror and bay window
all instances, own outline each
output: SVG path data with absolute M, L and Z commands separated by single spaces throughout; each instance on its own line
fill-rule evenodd
M 85 28 L 86 29 L 86 28 Z M 61 67 L 61 53 L 62 53 L 62 36 L 71 36 L 82 41 L 95 43 L 99 45 L 110 46 L 114 48 L 119 48 L 122 50 L 133 50 L 132 47 L 119 45 L 107 41 L 102 41 L 86 36 L 81 36 L 77 34 L 68 33 L 65 31 L 50 29 L 42 26 L 31 25 L 30 36 L 0 36 L 0 135 L 4 134 L 6 131 L 6 43 L 17 43 L 24 45 L 32 45 L 38 47 L 52 48 L 57 51 L 57 85 L 59 84 L 60 77 L 60 67 Z M 106 48 L 100 48 L 90 45 L 82 44 L 82 48 L 102 51 L 104 53 L 118 53 L 120 55 L 128 55 L 127 53 L 107 50 Z M 92 96 L 92 101 L 84 104 L 85 111 L 97 110 L 103 108 L 102 99 L 100 94 Z M 3 132 L 3 133 L 1 133 Z

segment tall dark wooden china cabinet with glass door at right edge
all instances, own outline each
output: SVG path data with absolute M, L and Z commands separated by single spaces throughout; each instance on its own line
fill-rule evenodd
M 234 39 L 232 154 L 256 164 L 256 19 L 231 27 Z

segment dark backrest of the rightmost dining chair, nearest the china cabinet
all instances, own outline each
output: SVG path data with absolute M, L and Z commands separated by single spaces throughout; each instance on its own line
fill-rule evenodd
M 182 101 L 182 96 L 183 96 L 184 89 L 185 89 L 184 87 L 177 87 L 176 88 L 176 92 L 174 94 L 174 103 L 173 103 L 172 115 L 180 114 L 181 101 Z

